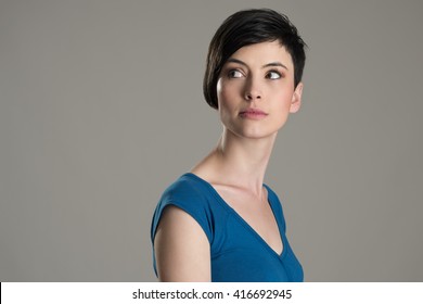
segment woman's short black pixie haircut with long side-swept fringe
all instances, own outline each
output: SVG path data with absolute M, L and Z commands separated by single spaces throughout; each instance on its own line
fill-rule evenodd
M 245 10 L 229 16 L 217 29 L 208 48 L 203 93 L 214 109 L 217 103 L 217 81 L 227 60 L 245 46 L 278 40 L 291 54 L 295 87 L 302 80 L 306 63 L 306 43 L 286 15 L 273 10 Z

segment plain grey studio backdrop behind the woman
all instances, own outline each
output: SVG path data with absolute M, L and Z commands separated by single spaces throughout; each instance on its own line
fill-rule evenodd
M 423 280 L 422 1 L 1 0 L 1 281 L 155 280 L 155 204 L 221 131 L 208 42 L 264 7 L 310 47 L 266 178 L 306 280 Z

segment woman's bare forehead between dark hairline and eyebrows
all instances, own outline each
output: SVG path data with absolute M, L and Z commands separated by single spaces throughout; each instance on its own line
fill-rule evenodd
M 230 59 L 243 61 L 252 66 L 265 65 L 271 62 L 281 62 L 289 69 L 292 69 L 294 66 L 291 54 L 279 40 L 242 47 L 230 55 L 228 60 Z

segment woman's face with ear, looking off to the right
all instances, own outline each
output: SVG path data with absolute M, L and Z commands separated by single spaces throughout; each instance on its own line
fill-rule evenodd
M 303 84 L 294 88 L 294 65 L 279 41 L 239 49 L 222 67 L 217 97 L 220 119 L 233 134 L 264 138 L 278 132 L 300 105 Z

